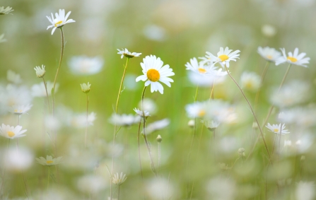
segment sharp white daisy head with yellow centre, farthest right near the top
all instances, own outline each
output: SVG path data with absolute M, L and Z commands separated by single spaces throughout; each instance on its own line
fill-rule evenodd
M 288 57 L 286 57 L 286 49 L 281 48 L 281 52 L 283 54 L 283 57 L 280 57 L 276 61 L 276 65 L 282 64 L 283 62 L 288 62 L 290 64 L 295 64 L 298 66 L 305 66 L 308 67 L 305 64 L 309 64 L 309 57 L 305 57 L 306 53 L 300 53 L 298 54 L 298 48 L 294 49 L 294 52 L 288 52 Z M 305 58 L 304 58 L 305 57 Z

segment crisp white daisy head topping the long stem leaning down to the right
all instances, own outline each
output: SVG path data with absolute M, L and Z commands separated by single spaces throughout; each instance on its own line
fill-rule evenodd
M 239 52 L 240 50 L 235 50 L 235 52 L 231 52 L 233 50 L 228 49 L 228 47 L 223 49 L 223 47 L 220 48 L 219 52 L 217 53 L 217 57 L 215 57 L 213 54 L 210 52 L 206 52 L 206 58 L 211 59 L 212 61 L 215 61 L 214 64 L 220 63 L 225 65 L 226 67 L 229 68 L 229 61 L 236 61 L 236 59 L 239 59 Z

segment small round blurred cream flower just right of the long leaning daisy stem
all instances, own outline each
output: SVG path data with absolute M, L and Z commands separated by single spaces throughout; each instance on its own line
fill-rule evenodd
M 246 90 L 256 91 L 260 87 L 261 78 L 254 72 L 245 71 L 240 77 L 241 87 Z

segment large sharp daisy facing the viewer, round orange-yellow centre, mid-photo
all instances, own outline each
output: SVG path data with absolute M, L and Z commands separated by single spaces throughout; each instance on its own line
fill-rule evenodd
M 168 64 L 163 66 L 163 61 L 156 56 L 146 56 L 143 59 L 144 63 L 141 62 L 141 68 L 143 69 L 144 75 L 141 75 L 136 78 L 138 81 L 146 81 L 145 86 L 151 85 L 151 93 L 153 91 L 159 91 L 163 94 L 163 85 L 158 81 L 165 83 L 165 85 L 171 87 L 170 82 L 173 82 L 168 76 L 174 76 L 175 73 L 172 72 L 172 69 Z

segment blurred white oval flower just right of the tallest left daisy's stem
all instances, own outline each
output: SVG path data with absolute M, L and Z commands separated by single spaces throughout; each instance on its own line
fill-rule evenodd
M 68 62 L 71 73 L 76 75 L 92 75 L 99 73 L 103 64 L 104 60 L 101 57 L 86 56 L 71 57 Z

